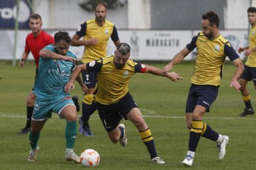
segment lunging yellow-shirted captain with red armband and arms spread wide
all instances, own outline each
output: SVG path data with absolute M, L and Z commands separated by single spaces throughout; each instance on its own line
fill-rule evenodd
M 178 81 L 182 78 L 174 72 L 164 74 L 159 68 L 136 63 L 129 57 L 130 46 L 122 42 L 117 46 L 114 56 L 95 60 L 75 68 L 65 86 L 65 91 L 69 92 L 70 88 L 74 88 L 74 80 L 82 71 L 96 71 L 98 81 L 95 90 L 96 107 L 109 139 L 114 144 L 119 141 L 122 147 L 125 147 L 127 145 L 125 126 L 119 123 L 122 118 L 129 119 L 139 130 L 140 137 L 150 153 L 151 161 L 163 164 L 164 161 L 156 153 L 151 131 L 129 93 L 128 82 L 135 73 L 165 76 L 171 81 Z

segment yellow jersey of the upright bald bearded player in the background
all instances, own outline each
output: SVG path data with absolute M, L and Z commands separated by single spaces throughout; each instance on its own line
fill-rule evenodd
M 111 37 L 113 42 L 119 40 L 116 27 L 108 20 L 105 20 L 105 24 L 103 26 L 99 26 L 95 22 L 95 19 L 87 20 L 79 26 L 76 34 L 83 37 L 84 40 L 90 38 L 98 39 L 98 44 L 85 46 L 85 49 L 83 50 L 82 63 L 92 62 L 93 60 L 105 57 L 109 37 Z

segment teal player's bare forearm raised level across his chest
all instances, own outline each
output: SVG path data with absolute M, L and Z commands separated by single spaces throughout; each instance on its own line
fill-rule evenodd
M 42 49 L 39 52 L 39 55 L 40 55 L 40 57 L 43 57 L 44 59 L 65 60 L 67 62 L 79 61 L 73 57 L 57 54 L 55 52 L 49 51 L 48 49 Z

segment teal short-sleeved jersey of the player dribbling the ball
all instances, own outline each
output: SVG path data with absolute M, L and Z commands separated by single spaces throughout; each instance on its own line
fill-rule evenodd
M 43 49 L 56 53 L 53 44 L 49 44 Z M 75 54 L 70 51 L 66 55 L 77 59 Z M 74 62 L 40 57 L 38 75 L 33 89 L 36 99 L 48 102 L 61 96 L 64 98 L 70 95 L 64 92 L 64 86 L 69 81 L 70 74 L 74 68 Z

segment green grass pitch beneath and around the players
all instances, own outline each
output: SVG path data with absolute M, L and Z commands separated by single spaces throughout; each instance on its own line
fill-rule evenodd
M 166 63 L 149 64 L 163 68 Z M 121 121 L 126 124 L 127 147 L 112 144 L 97 111 L 90 119 L 95 136 L 84 137 L 78 132 L 74 151 L 80 155 L 87 148 L 96 150 L 100 154 L 100 164 L 96 169 L 185 169 L 181 162 L 186 156 L 189 130 L 186 128 L 184 111 L 194 63 L 183 62 L 174 66 L 173 70 L 183 76 L 182 81 L 173 83 L 160 76 L 137 73 L 129 83 L 129 91 L 151 129 L 158 155 L 166 164 L 150 162 L 147 148 L 130 121 Z M 191 169 L 256 169 L 256 118 L 255 115 L 245 118 L 237 116 L 243 110 L 244 103 L 241 94 L 229 87 L 234 70 L 232 64 L 224 66 L 218 98 L 203 119 L 215 131 L 229 136 L 226 157 L 218 160 L 215 142 L 202 137 Z M 34 76 L 33 62 L 28 62 L 25 68 L 12 67 L 11 62 L 0 62 L 0 169 L 84 169 L 80 164 L 65 160 L 66 122 L 59 119 L 56 113 L 41 131 L 38 160 L 35 163 L 27 162 L 30 150 L 28 135 L 16 133 L 25 126 L 25 101 L 32 89 Z M 254 87 L 252 83 L 248 87 L 255 107 Z M 72 95 L 78 95 L 82 102 L 79 84 L 76 83 Z M 78 115 L 81 115 L 81 111 Z

